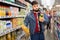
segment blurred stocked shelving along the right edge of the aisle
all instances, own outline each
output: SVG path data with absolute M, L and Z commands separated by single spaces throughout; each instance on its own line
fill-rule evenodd
M 55 27 L 55 35 L 57 37 L 58 40 L 60 40 L 60 26 L 58 26 L 58 24 L 60 24 L 60 19 L 58 20 L 60 16 L 56 16 L 55 17 L 55 22 L 54 22 L 54 27 Z

